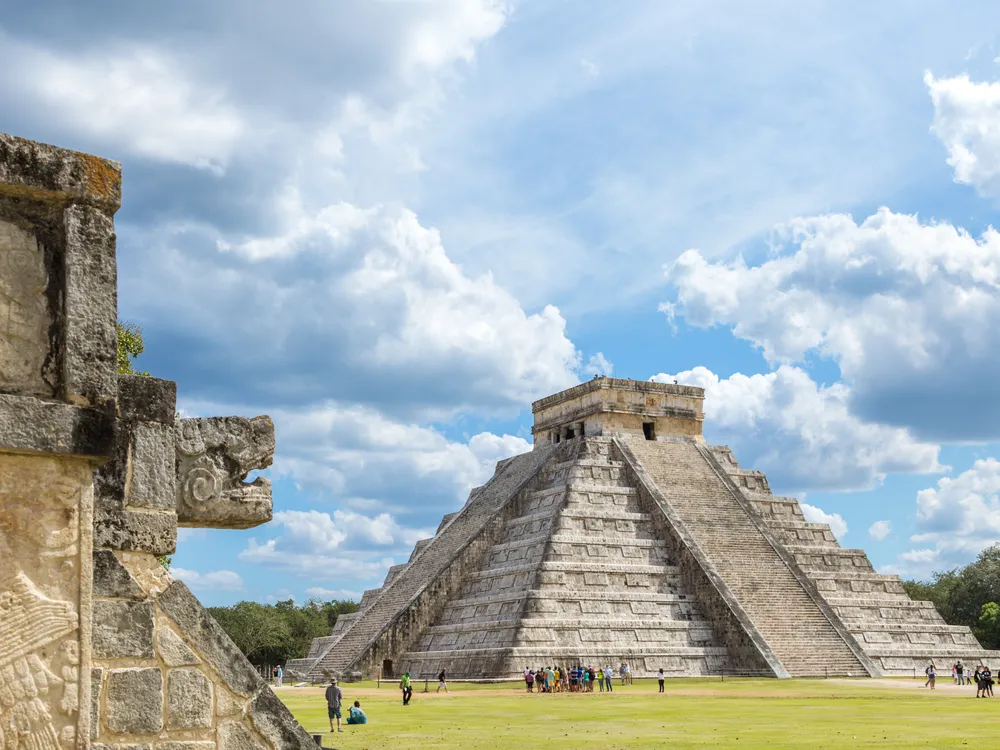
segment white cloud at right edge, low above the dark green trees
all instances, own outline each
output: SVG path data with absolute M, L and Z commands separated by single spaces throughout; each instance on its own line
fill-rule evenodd
M 917 493 L 917 533 L 924 545 L 899 556 L 899 567 L 926 576 L 965 564 L 1000 541 L 1000 461 L 977 460 L 957 477 Z

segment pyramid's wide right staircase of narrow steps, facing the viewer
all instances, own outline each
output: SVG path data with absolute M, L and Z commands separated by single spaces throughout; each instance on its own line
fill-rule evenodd
M 868 674 L 849 636 L 838 632 L 705 449 L 687 441 L 621 439 L 792 676 Z

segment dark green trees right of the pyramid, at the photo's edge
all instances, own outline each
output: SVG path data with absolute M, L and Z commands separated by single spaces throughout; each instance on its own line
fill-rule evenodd
M 983 648 L 1000 649 L 1000 544 L 964 568 L 934 573 L 930 582 L 903 581 L 912 599 L 934 603 L 949 625 L 972 628 Z

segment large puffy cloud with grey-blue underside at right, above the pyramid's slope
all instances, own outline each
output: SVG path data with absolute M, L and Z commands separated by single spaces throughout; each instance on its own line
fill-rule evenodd
M 771 362 L 835 360 L 864 420 L 930 440 L 1000 435 L 1000 234 L 883 208 L 860 224 L 797 219 L 776 238 L 776 257 L 756 266 L 688 250 L 661 309 L 731 326 Z M 955 394 L 975 408 L 956 408 Z

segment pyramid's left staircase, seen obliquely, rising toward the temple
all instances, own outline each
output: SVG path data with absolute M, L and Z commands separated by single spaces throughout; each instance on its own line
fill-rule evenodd
M 378 661 L 380 656 L 369 653 L 376 641 L 406 615 L 424 589 L 441 579 L 459 554 L 479 537 L 497 514 L 515 499 L 546 460 L 559 450 L 539 448 L 500 462 L 490 481 L 473 490 L 465 506 L 442 524 L 421 553 L 408 565 L 401 567 L 367 604 L 359 617 L 349 624 L 333 647 L 316 660 L 309 670 L 309 678 L 321 680 L 326 674 L 343 674 L 359 666 L 366 666 L 367 670 L 362 671 L 371 672 L 372 663 Z M 433 607 L 435 597 L 428 599 L 430 601 L 426 606 Z M 441 597 L 437 599 L 440 600 Z M 444 601 L 440 601 L 440 606 L 443 604 Z M 422 615 L 429 616 L 426 608 L 422 610 Z M 392 633 L 394 648 L 402 651 L 398 641 L 408 638 L 415 640 L 421 629 L 419 622 L 404 620 L 401 629 Z M 393 649 L 383 651 L 389 653 Z M 361 665 L 360 662 L 366 658 L 369 663 Z

